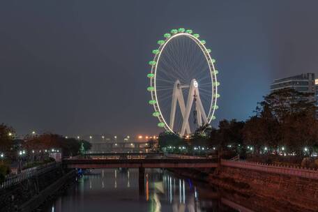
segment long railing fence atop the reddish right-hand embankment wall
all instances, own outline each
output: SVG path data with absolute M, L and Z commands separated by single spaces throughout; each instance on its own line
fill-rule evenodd
M 308 179 L 318 179 L 318 171 L 303 167 L 287 167 L 282 165 L 268 165 L 259 162 L 221 160 L 221 165 L 227 167 L 237 167 L 241 169 L 252 169 L 261 172 L 275 174 L 287 174 L 291 176 L 300 176 Z

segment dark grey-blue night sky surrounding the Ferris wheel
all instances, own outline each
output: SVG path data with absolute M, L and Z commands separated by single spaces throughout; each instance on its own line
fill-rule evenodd
M 148 61 L 193 29 L 220 74 L 217 119 L 248 119 L 275 78 L 317 73 L 318 1 L 1 1 L 0 123 L 22 135 L 160 132 Z

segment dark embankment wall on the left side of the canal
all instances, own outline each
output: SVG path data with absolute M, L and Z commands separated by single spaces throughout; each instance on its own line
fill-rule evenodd
M 0 211 L 32 211 L 36 209 L 48 195 L 52 195 L 56 189 L 63 185 L 63 182 L 56 185 L 56 181 L 63 179 L 63 176 L 70 178 L 68 173 L 72 172 L 63 169 L 61 165 L 56 165 L 52 169 L 47 169 L 46 172 L 41 170 L 38 174 L 33 174 L 23 181 L 1 189 Z

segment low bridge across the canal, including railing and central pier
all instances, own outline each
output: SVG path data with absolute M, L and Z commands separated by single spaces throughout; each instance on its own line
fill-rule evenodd
M 162 153 L 86 153 L 64 158 L 63 165 L 75 169 L 138 168 L 139 191 L 144 192 L 145 168 L 215 168 L 216 158 L 163 155 Z

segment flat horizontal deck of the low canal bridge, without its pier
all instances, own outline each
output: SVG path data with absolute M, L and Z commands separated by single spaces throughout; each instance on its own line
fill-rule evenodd
M 63 164 L 69 168 L 210 168 L 217 167 L 214 159 L 190 158 L 144 158 L 144 159 L 64 159 Z

